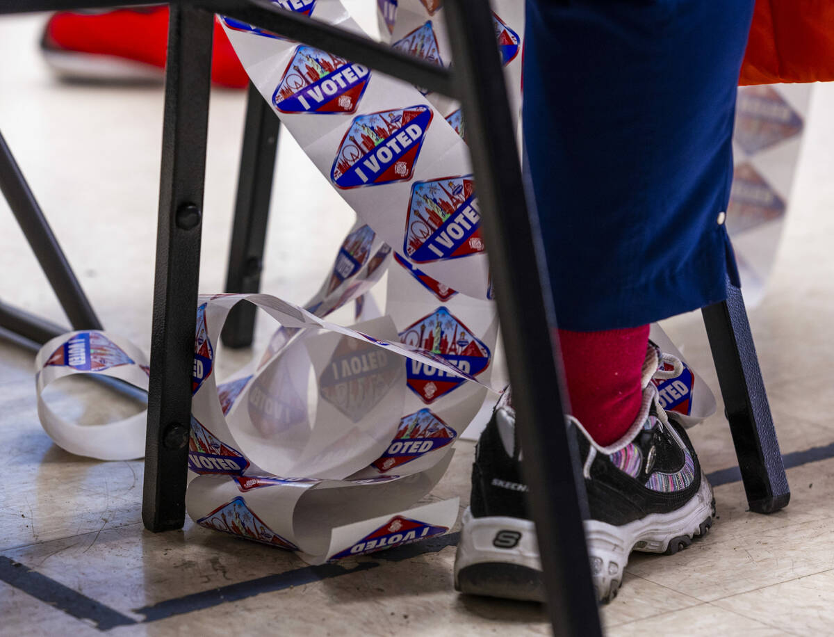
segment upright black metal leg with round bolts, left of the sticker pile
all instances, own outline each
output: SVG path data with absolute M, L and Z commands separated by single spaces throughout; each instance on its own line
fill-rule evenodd
M 182 528 L 214 14 L 171 4 L 142 519 Z

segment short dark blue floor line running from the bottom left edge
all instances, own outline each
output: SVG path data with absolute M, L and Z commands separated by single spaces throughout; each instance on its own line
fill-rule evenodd
M 33 571 L 28 566 L 15 562 L 5 555 L 0 555 L 0 580 L 77 619 L 93 621 L 99 630 L 137 623 L 136 619 L 123 615 L 118 610 L 90 599 L 87 595 L 80 594 L 63 584 L 58 584 L 54 579 Z

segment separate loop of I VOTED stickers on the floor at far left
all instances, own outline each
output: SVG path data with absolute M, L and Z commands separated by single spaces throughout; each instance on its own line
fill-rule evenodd
M 148 391 L 148 361 L 126 339 L 103 331 L 73 331 L 56 336 L 35 357 L 38 417 L 53 442 L 78 456 L 98 460 L 131 460 L 145 454 L 147 411 L 106 424 L 70 422 L 49 407 L 46 387 L 58 378 L 99 374 Z

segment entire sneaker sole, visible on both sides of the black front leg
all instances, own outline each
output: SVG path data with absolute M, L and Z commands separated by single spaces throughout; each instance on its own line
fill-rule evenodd
M 712 488 L 701 474 L 695 497 L 671 513 L 651 513 L 622 526 L 585 521 L 591 574 L 600 601 L 620 589 L 632 550 L 677 553 L 711 527 Z M 455 589 L 461 593 L 506 599 L 545 601 L 541 560 L 530 520 L 473 518 L 467 508 L 455 555 Z

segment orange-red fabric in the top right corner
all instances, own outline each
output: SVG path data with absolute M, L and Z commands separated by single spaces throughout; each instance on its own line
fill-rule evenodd
M 756 0 L 741 85 L 834 80 L 834 2 Z

